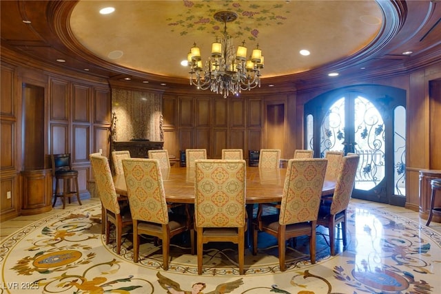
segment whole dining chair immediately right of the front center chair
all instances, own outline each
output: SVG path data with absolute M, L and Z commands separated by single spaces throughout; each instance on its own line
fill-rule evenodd
M 309 236 L 311 264 L 316 263 L 316 222 L 326 165 L 325 158 L 288 160 L 282 201 L 258 205 L 253 222 L 253 254 L 257 254 L 258 231 L 273 235 L 278 242 L 280 271 L 286 270 L 286 241 L 301 235 Z M 264 216 L 265 206 L 276 207 L 280 212 Z

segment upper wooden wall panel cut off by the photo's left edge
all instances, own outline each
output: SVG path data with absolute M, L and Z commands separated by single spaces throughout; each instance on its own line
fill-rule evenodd
M 0 78 L 0 114 L 1 116 L 15 116 L 16 101 L 13 95 L 14 72 L 12 72 L 12 70 L 1 67 Z

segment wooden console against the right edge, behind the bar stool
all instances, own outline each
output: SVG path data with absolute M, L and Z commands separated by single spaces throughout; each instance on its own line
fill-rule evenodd
M 420 170 L 420 218 L 427 220 L 430 213 L 431 201 L 431 180 L 441 178 L 441 170 L 422 169 Z M 435 207 L 441 207 L 441 200 L 435 199 Z M 433 215 L 432 222 L 441 222 L 441 217 Z

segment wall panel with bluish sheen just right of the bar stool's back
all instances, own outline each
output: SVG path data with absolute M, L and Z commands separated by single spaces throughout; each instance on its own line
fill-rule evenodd
M 90 126 L 89 125 L 73 125 L 72 132 L 74 134 L 72 145 L 72 164 L 77 162 L 89 162 L 90 151 Z

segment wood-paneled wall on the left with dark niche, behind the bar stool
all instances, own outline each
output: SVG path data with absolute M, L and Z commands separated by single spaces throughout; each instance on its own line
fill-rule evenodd
M 88 156 L 110 152 L 107 83 L 2 60 L 0 107 L 1 221 L 50 209 L 50 154 L 72 154 L 80 192 L 88 196 Z

